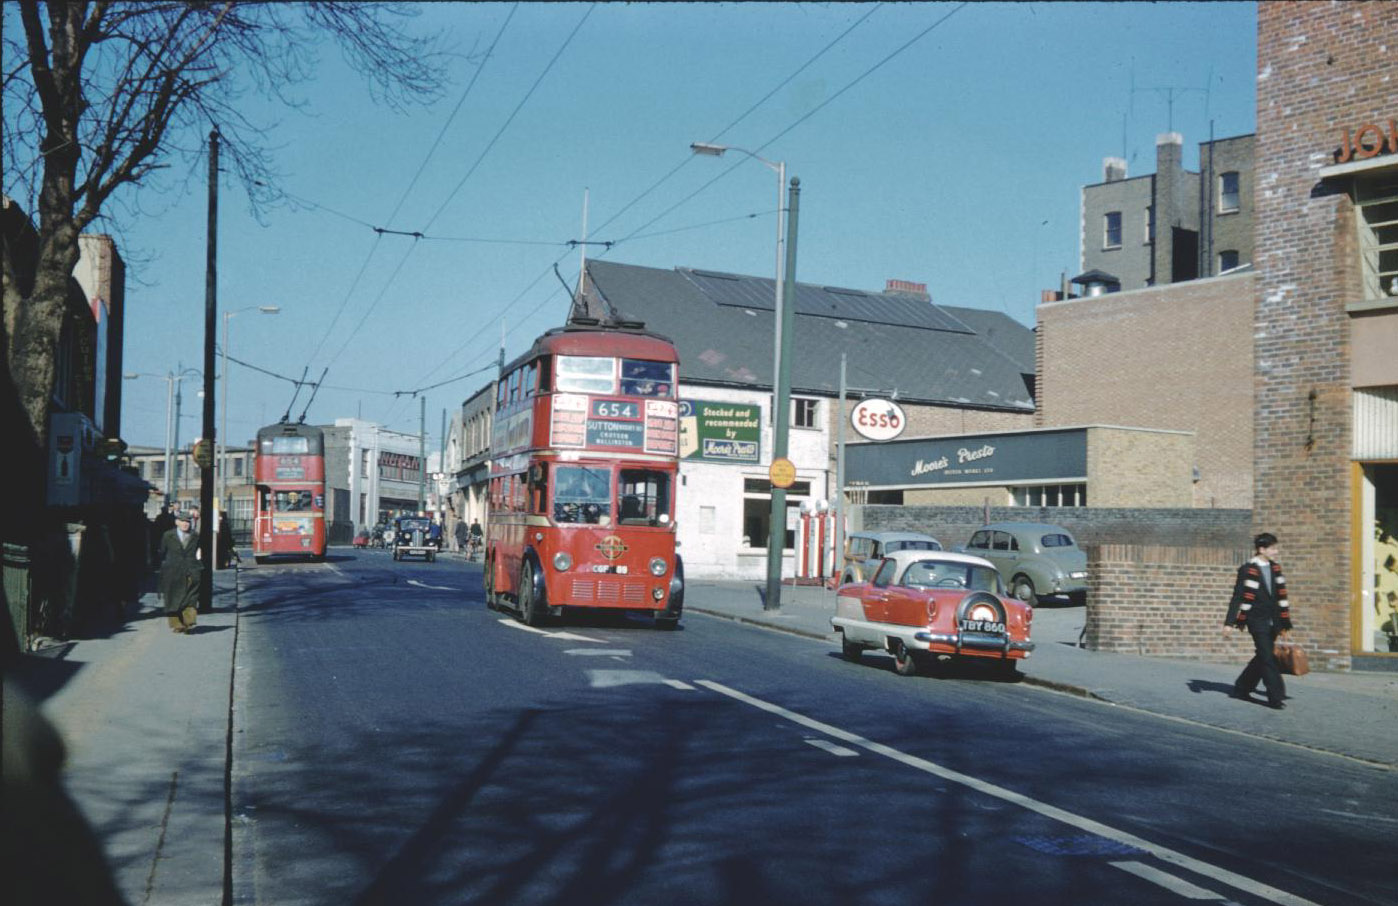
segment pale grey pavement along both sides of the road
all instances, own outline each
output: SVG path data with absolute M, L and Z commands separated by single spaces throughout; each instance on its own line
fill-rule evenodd
M 225 902 L 239 584 L 238 570 L 214 573 L 214 612 L 201 614 L 192 635 L 172 633 L 148 593 L 129 612 L 11 668 L 62 734 L 67 791 L 102 840 L 129 903 Z M 837 646 L 829 622 L 833 591 L 786 586 L 781 608 L 769 612 L 762 590 L 752 582 L 692 580 L 686 618 L 731 619 Z M 1398 673 L 1288 677 L 1290 700 L 1275 712 L 1229 698 L 1241 661 L 1089 652 L 1078 647 L 1082 625 L 1082 607 L 1036 608 L 1037 649 L 1021 664 L 1026 693 L 1092 700 L 1103 720 L 1113 707 L 1130 707 L 1398 769 Z M 877 657 L 865 659 L 871 668 Z

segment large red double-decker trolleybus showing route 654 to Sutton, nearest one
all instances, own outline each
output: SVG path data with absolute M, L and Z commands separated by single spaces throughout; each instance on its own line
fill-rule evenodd
M 485 596 L 538 625 L 566 610 L 684 608 L 674 344 L 640 324 L 575 320 L 500 375 Z

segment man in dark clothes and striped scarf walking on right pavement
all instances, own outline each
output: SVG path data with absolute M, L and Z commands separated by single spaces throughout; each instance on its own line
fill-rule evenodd
M 1286 597 L 1286 576 L 1276 562 L 1276 535 L 1269 531 L 1253 538 L 1253 559 L 1237 568 L 1233 597 L 1227 605 L 1225 624 L 1253 636 L 1253 660 L 1233 681 L 1232 696 L 1253 700 L 1258 681 L 1267 686 L 1267 706 L 1286 707 L 1286 685 L 1276 667 L 1278 635 L 1292 631 L 1290 601 Z

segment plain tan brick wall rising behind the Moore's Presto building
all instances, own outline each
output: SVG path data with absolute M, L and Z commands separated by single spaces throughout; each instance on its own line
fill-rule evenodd
M 1254 294 L 1244 273 L 1040 305 L 1037 425 L 1192 431 L 1192 506 L 1251 508 Z

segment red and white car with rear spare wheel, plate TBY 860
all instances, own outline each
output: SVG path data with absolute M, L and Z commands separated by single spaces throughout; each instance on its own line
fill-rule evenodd
M 830 625 L 844 657 L 886 650 L 905 677 L 944 659 L 993 661 L 1012 675 L 1035 650 L 1035 608 L 1007 596 L 994 565 L 969 554 L 895 551 L 868 582 L 835 594 Z

